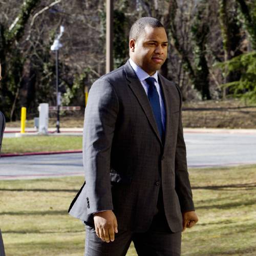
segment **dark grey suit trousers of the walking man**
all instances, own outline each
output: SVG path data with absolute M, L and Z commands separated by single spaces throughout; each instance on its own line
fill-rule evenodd
M 162 189 L 160 189 L 161 191 Z M 146 232 L 118 230 L 114 242 L 102 242 L 93 226 L 86 225 L 85 256 L 124 256 L 133 241 L 139 256 L 179 256 L 181 253 L 181 232 L 172 232 L 165 218 L 160 193 L 150 229 Z

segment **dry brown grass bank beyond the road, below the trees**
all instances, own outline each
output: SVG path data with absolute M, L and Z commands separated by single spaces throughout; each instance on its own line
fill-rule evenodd
M 256 129 L 256 104 L 245 104 L 240 100 L 207 100 L 183 103 L 184 127 L 250 128 Z M 28 120 L 26 126 L 33 127 Z M 7 127 L 19 127 L 19 121 L 8 122 Z M 56 126 L 56 117 L 51 113 L 49 127 Z M 60 127 L 82 127 L 83 113 L 69 112 L 60 117 Z

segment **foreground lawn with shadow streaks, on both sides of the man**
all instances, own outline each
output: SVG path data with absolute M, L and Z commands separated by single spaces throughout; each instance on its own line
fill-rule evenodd
M 182 255 L 256 255 L 256 165 L 190 169 L 199 223 Z M 6 255 L 83 255 L 83 224 L 67 214 L 82 177 L 0 181 Z M 127 255 L 137 255 L 131 245 Z

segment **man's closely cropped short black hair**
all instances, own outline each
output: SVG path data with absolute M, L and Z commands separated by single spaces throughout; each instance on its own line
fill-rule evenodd
M 145 27 L 149 26 L 152 28 L 164 28 L 161 22 L 159 22 L 158 19 L 152 18 L 152 17 L 142 17 L 136 20 L 136 22 L 133 24 L 131 30 L 130 30 L 130 35 L 129 35 L 129 40 L 135 39 L 137 40 L 138 37 L 144 33 Z

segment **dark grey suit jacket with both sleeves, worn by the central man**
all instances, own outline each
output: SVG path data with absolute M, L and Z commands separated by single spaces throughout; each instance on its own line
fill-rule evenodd
M 173 82 L 159 78 L 166 109 L 164 143 L 129 61 L 94 82 L 84 117 L 86 182 L 70 205 L 70 215 L 93 223 L 94 212 L 113 209 L 119 229 L 143 232 L 151 225 L 162 187 L 169 227 L 182 230 L 181 212 L 194 210 L 194 204 L 181 93 Z

